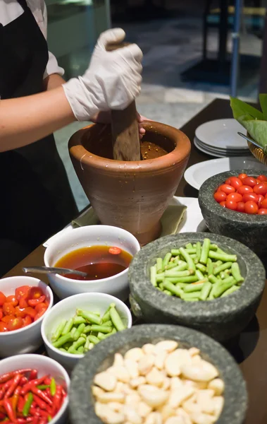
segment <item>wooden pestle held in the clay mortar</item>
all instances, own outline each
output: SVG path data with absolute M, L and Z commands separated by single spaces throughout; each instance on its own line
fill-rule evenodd
M 108 45 L 106 50 L 112 52 L 128 44 Z M 125 110 L 111 110 L 113 159 L 141 160 L 139 127 L 136 114 L 135 101 L 126 107 Z

